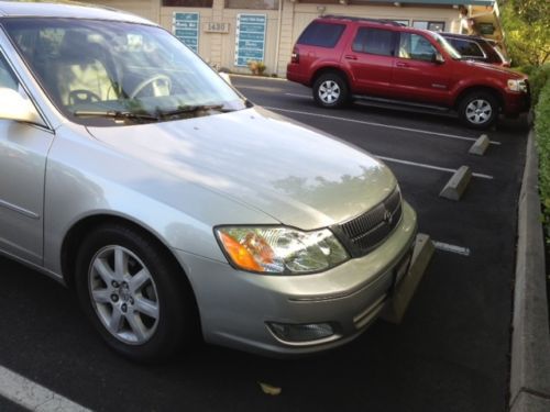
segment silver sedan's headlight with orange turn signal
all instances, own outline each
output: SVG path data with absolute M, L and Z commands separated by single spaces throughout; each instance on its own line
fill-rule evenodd
M 215 232 L 230 263 L 248 271 L 310 274 L 350 258 L 328 229 L 301 232 L 280 226 L 223 226 Z

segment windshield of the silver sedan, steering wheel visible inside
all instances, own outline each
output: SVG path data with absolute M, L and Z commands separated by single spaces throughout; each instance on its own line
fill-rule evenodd
M 86 125 L 124 125 L 241 110 L 246 101 L 163 29 L 118 21 L 6 19 L 55 105 Z

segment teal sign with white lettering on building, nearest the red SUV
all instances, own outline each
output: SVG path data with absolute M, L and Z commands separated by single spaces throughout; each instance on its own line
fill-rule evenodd
M 266 26 L 265 14 L 237 14 L 235 66 L 264 60 Z

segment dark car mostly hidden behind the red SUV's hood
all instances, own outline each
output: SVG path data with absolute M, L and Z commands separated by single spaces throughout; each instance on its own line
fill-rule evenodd
M 510 67 L 510 62 L 504 57 L 494 40 L 470 36 L 468 34 L 439 33 L 459 52 L 462 57 L 491 63 L 492 65 Z

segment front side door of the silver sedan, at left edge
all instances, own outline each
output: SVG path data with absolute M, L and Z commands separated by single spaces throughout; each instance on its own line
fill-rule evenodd
M 0 87 L 25 93 L 0 51 Z M 2 105 L 9 101 L 0 101 Z M 1 116 L 1 115 L 0 115 Z M 46 156 L 53 132 L 0 119 L 0 252 L 41 265 Z

